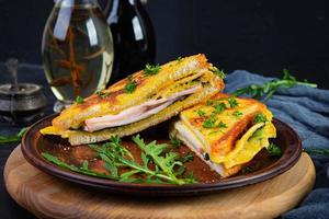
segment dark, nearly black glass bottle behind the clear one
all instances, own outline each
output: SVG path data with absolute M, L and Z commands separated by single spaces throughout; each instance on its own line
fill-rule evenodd
M 114 41 L 114 67 L 111 82 L 152 64 L 156 38 L 151 21 L 139 0 L 110 0 L 105 9 Z

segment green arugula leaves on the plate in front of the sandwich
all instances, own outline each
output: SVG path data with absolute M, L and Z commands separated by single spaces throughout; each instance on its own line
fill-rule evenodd
M 181 161 L 179 153 L 171 151 L 168 152 L 168 149 L 170 148 L 169 145 L 159 145 L 156 141 L 145 143 L 139 135 L 132 139 L 141 150 L 140 160 L 143 164 L 135 162 L 135 158 L 121 143 L 121 139 L 118 137 L 112 137 L 110 142 L 103 145 L 89 145 L 89 147 L 98 153 L 98 157 L 104 161 L 104 168 L 109 174 L 90 170 L 88 161 L 84 161 L 81 168 L 78 168 L 68 164 L 49 153 L 42 153 L 42 155 L 60 168 L 97 177 L 117 180 L 120 182 L 152 184 L 169 183 L 177 185 L 196 182 L 195 178 L 191 176 L 179 177 L 185 172 L 183 162 L 188 162 L 193 159 L 190 154 L 184 157 Z M 150 163 L 154 164 L 154 169 L 149 168 Z M 128 168 L 129 171 L 120 173 L 120 168 Z

